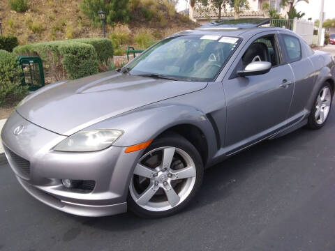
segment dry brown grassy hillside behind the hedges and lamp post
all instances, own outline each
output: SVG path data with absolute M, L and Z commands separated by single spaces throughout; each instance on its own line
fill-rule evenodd
M 3 33 L 13 34 L 19 43 L 36 43 L 49 40 L 70 38 L 91 38 L 102 36 L 102 29 L 93 26 L 89 18 L 80 10 L 81 0 L 30 0 L 25 13 L 16 13 L 10 9 L 8 0 L 0 1 Z M 194 28 L 196 24 L 184 15 L 179 15 L 169 6 L 158 0 L 140 0 L 140 6 L 131 9 L 131 21 L 117 24 L 116 28 L 106 26 L 107 37 L 114 29 L 128 33 L 128 45 L 136 45 L 133 36 L 138 33 L 149 34 L 152 40 L 161 39 L 170 33 Z M 152 10 L 152 17 L 141 11 L 145 7 Z M 157 15 L 156 15 L 157 14 Z M 120 28 L 121 27 L 121 28 Z

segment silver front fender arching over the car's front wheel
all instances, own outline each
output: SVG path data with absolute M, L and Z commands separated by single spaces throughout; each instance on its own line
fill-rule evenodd
M 114 128 L 124 130 L 124 135 L 115 146 L 131 146 L 155 139 L 165 130 L 181 124 L 199 128 L 209 142 L 209 153 L 215 151 L 215 132 L 206 114 L 188 105 L 147 105 L 133 111 L 114 116 L 87 128 Z

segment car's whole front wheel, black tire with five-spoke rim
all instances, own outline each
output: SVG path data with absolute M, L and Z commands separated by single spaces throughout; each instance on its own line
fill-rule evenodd
M 202 158 L 191 142 L 177 134 L 159 137 L 137 162 L 129 185 L 128 208 L 143 218 L 173 215 L 195 197 L 203 174 Z

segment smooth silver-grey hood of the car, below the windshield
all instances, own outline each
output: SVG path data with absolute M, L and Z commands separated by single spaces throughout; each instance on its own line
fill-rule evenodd
M 71 135 L 112 116 L 206 85 L 110 71 L 47 85 L 28 96 L 17 112 L 47 130 Z

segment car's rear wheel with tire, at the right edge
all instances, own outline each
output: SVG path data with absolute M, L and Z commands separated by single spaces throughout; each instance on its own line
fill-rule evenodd
M 324 93 L 325 90 L 327 90 L 326 94 Z M 325 82 L 318 91 L 318 96 L 316 96 L 314 105 L 311 108 L 311 114 L 308 116 L 308 128 L 318 130 L 322 128 L 322 126 L 325 126 L 325 123 L 329 117 L 330 109 L 332 108 L 332 101 L 332 87 L 328 82 Z

